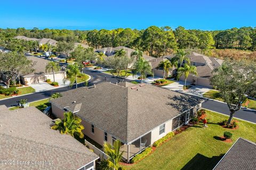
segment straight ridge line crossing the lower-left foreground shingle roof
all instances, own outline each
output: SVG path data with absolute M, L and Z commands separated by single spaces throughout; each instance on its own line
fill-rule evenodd
M 39 145 L 44 145 L 44 146 L 49 146 L 49 147 L 54 147 L 54 148 L 58 148 L 58 149 L 62 149 L 62 150 L 66 150 L 66 151 L 71 151 L 71 152 L 75 152 L 77 154 L 81 154 L 81 155 L 86 155 L 86 156 L 91 156 L 93 157 L 92 154 L 86 154 L 84 152 L 80 152 L 80 151 L 76 151 L 76 150 L 73 150 L 73 149 L 67 149 L 67 148 L 63 148 L 63 147 L 59 147 L 57 145 L 50 145 L 50 144 L 47 144 L 47 143 L 43 143 L 43 142 L 39 142 L 39 141 L 35 141 L 35 140 L 29 140 L 29 139 L 26 139 L 26 138 L 21 138 L 21 137 L 14 137 L 13 135 L 10 135 L 10 134 L 7 134 L 7 133 L 0 133 L 0 135 L 4 135 L 4 136 L 7 136 L 7 137 L 11 137 L 11 138 L 15 138 L 15 139 L 19 139 L 19 140 L 24 140 L 24 141 L 28 141 L 28 142 L 34 142 L 34 143 L 37 143 Z M 82 144 L 82 143 L 81 143 Z

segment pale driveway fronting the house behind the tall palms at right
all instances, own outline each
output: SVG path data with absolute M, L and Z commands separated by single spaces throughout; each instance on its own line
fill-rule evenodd
M 211 90 L 211 88 L 209 88 L 209 87 L 198 86 L 198 85 L 192 86 L 191 88 L 189 88 L 187 90 L 183 90 L 184 84 L 185 84 L 184 81 L 175 81 L 174 83 L 171 83 L 169 85 L 162 86 L 162 88 L 166 88 L 166 89 L 169 89 L 169 90 L 181 92 L 183 94 L 195 95 L 195 96 L 198 96 L 198 97 L 203 97 L 203 94 L 205 92 Z

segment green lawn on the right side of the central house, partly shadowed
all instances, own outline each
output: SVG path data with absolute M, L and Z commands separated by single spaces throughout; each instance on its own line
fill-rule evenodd
M 175 135 L 170 141 L 158 147 L 153 154 L 141 162 L 125 166 L 127 169 L 213 169 L 221 156 L 239 138 L 256 142 L 256 124 L 239 120 L 239 129 L 229 130 L 222 128 L 218 122 L 228 116 L 207 111 L 209 128 L 203 129 L 203 124 L 188 128 Z M 221 137 L 223 132 L 233 133 L 233 142 L 225 143 L 215 138 Z

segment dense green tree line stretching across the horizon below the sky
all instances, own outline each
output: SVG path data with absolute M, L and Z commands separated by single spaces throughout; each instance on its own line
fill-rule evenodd
M 216 49 L 256 50 L 256 28 L 242 27 L 228 30 L 187 30 L 183 27 L 150 26 L 144 30 L 118 28 L 114 30 L 58 30 L 34 28 L 26 30 L 0 29 L 0 38 L 17 35 L 34 38 L 52 38 L 58 41 L 86 41 L 93 48 L 126 46 L 140 49 L 146 54 L 159 57 L 171 54 L 177 49 L 199 49 L 201 52 Z

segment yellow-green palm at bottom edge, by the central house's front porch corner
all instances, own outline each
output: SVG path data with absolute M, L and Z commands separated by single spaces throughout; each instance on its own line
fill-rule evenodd
M 108 155 L 108 159 L 105 162 L 106 164 L 103 164 L 107 167 L 103 167 L 103 169 L 117 170 L 120 167 L 119 162 L 121 162 L 124 152 L 122 151 L 120 153 L 120 147 L 121 142 L 119 140 L 116 140 L 113 146 L 111 146 L 110 143 L 104 143 L 103 148 L 105 154 Z

